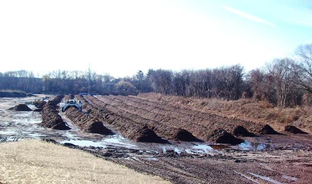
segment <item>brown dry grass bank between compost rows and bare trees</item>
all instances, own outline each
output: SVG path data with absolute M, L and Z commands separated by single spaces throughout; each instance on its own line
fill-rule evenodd
M 283 131 L 285 125 L 294 125 L 304 131 L 312 132 L 312 107 L 309 106 L 279 109 L 267 101 L 254 101 L 251 99 L 229 101 L 221 99 L 193 99 L 156 93 L 142 93 L 138 96 L 184 104 L 222 117 L 235 117 L 256 123 L 270 124 L 278 131 Z

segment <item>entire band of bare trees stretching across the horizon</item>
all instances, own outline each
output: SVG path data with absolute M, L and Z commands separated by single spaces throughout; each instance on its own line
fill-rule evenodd
M 88 72 L 52 71 L 36 78 L 30 71 L 0 73 L 0 89 L 32 93 L 86 93 Z M 293 58 L 275 59 L 261 69 L 245 72 L 240 65 L 214 69 L 139 70 L 132 77 L 90 74 L 91 93 L 135 95 L 157 92 L 194 98 L 267 100 L 280 108 L 312 104 L 312 44 L 299 46 Z

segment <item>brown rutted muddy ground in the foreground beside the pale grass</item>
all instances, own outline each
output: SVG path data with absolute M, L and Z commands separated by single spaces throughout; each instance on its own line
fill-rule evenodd
M 255 141 L 255 138 L 249 138 Z M 106 160 L 143 173 L 161 176 L 176 184 L 186 183 L 298 183 L 312 181 L 312 141 L 307 135 L 266 135 L 257 141 L 265 150 L 241 150 L 235 146 L 210 145 L 205 150 L 181 151 L 179 144 L 161 149 L 138 144 L 136 148 L 77 147 Z M 168 145 L 167 145 L 168 146 Z M 150 151 L 144 150 L 149 147 Z M 203 151 L 200 151 L 203 149 Z

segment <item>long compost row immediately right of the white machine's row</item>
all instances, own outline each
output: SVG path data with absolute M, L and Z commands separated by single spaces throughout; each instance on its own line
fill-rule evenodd
M 78 96 L 77 99 L 83 102 L 83 108 L 87 110 L 90 115 L 113 125 L 121 134 L 131 140 L 136 142 L 168 143 L 168 141 L 162 139 L 145 125 L 139 125 L 129 118 L 121 117 L 119 114 L 110 111 L 104 106 L 98 105 L 98 108 L 98 106 L 93 105 L 94 103 L 100 104 L 102 102 L 91 95 L 85 98 Z

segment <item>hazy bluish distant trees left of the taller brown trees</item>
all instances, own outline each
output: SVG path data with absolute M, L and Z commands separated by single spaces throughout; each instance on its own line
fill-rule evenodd
M 86 71 L 51 71 L 41 78 L 35 78 L 31 71 L 9 71 L 0 73 L 0 89 L 20 90 L 31 93 L 78 94 L 88 92 L 90 77 L 90 93 L 136 95 L 136 87 L 115 79 L 109 74 L 99 75 Z

